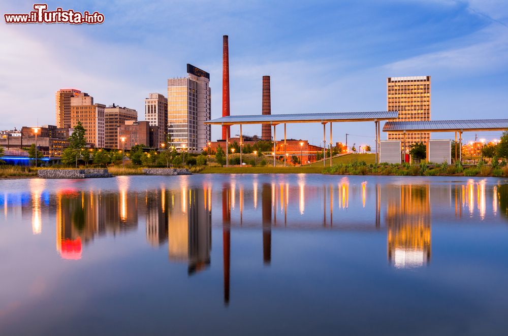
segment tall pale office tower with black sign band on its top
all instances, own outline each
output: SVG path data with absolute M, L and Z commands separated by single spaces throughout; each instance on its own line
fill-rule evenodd
M 199 153 L 211 140 L 210 74 L 187 64 L 186 78 L 168 79 L 169 146 Z

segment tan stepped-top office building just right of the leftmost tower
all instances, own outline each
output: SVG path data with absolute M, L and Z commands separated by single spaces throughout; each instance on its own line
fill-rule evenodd
M 105 121 L 103 104 L 93 104 L 93 97 L 88 93 L 78 93 L 71 97 L 71 127 L 81 122 L 85 128 L 85 139 L 95 147 L 105 146 Z

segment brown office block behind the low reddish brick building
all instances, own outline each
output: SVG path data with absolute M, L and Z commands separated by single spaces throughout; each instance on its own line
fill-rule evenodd
M 105 148 L 118 148 L 118 127 L 127 120 L 138 121 L 138 112 L 115 104 L 104 109 Z

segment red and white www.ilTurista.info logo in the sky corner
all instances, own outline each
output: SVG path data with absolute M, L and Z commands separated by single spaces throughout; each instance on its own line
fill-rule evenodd
M 55 11 L 47 11 L 47 4 L 35 4 L 34 10 L 28 14 L 4 14 L 5 23 L 70 23 L 97 24 L 104 22 L 104 14 L 88 11 L 75 12 L 72 9 L 64 11 L 58 7 Z

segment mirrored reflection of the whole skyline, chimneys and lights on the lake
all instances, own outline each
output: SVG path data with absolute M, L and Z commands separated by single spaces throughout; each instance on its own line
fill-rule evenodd
M 56 250 L 61 258 L 74 260 L 86 255 L 84 247 L 96 237 L 135 231 L 138 214 L 142 214 L 147 243 L 153 247 L 168 244 L 169 261 L 186 263 L 191 275 L 210 265 L 215 203 L 215 209 L 222 208 L 215 218 L 223 232 L 226 305 L 230 300 L 232 227 L 261 229 L 265 265 L 272 262 L 272 231 L 277 225 L 282 227 L 282 218 L 288 229 L 386 229 L 389 264 L 415 268 L 430 262 L 433 216 L 453 216 L 455 210 L 450 221 L 462 219 L 463 211 L 467 218 L 480 221 L 498 215 L 508 218 L 508 185 L 492 186 L 487 179 L 432 187 L 429 183 L 369 183 L 352 177 L 330 180 L 326 185 L 306 179 L 305 175 L 292 182 L 280 177 L 234 177 L 214 189 L 216 184 L 210 181 L 197 186 L 190 184 L 189 177 L 182 177 L 177 186 L 131 190 L 131 178 L 118 177 L 117 190 L 86 191 L 71 185 L 53 193 L 45 190 L 45 180 L 33 179 L 27 192 L 3 191 L 0 206 L 6 218 L 16 209 L 27 220 L 31 215 L 32 231 L 39 234 L 50 204 L 54 205 Z

